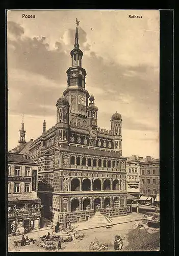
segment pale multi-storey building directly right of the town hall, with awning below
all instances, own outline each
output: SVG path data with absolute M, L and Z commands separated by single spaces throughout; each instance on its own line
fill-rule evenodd
M 126 161 L 127 192 L 136 197 L 138 197 L 140 193 L 139 163 L 141 160 L 143 160 L 143 157 L 133 155 L 132 157 L 128 157 Z

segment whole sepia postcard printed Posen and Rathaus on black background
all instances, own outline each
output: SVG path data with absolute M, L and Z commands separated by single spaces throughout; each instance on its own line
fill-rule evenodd
M 159 251 L 159 10 L 7 10 L 9 252 Z

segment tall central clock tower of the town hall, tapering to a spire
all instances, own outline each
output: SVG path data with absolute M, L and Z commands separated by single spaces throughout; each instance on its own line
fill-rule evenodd
M 75 32 L 74 49 L 70 52 L 71 67 L 67 70 L 68 88 L 64 91 L 64 96 L 69 102 L 69 121 L 73 117 L 79 116 L 82 119 L 87 118 L 87 105 L 89 93 L 85 89 L 86 71 L 82 68 L 83 52 L 79 49 L 78 27 Z

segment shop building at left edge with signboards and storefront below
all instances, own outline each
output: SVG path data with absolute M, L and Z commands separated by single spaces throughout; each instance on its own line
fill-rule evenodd
M 8 233 L 39 228 L 38 166 L 27 154 L 8 153 Z

